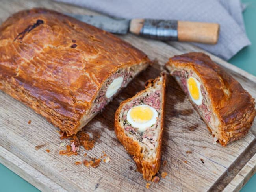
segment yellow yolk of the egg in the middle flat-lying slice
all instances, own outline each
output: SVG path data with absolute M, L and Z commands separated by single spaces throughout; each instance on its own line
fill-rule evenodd
M 138 106 L 131 109 L 131 118 L 136 123 L 145 123 L 152 119 L 153 111 L 146 106 Z

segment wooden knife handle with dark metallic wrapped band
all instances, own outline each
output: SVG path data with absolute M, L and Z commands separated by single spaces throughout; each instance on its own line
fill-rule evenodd
M 219 24 L 177 20 L 132 19 L 130 32 L 163 41 L 216 44 Z

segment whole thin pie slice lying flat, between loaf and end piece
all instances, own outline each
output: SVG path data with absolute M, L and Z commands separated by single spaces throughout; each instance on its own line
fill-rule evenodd
M 123 101 L 115 113 L 115 133 L 133 155 L 137 170 L 151 180 L 161 160 L 166 74 L 151 79 L 146 89 Z

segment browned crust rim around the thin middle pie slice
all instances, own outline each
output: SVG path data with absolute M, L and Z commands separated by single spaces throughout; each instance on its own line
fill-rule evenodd
M 150 79 L 145 83 L 145 90 L 142 90 L 138 92 L 135 96 L 132 98 L 129 98 L 127 100 L 124 100 L 120 103 L 117 111 L 115 112 L 115 134 L 117 135 L 118 140 L 122 143 L 126 151 L 130 153 L 130 155 L 133 155 L 133 159 L 137 165 L 137 170 L 143 174 L 143 178 L 146 180 L 152 179 L 154 175 L 158 172 L 161 164 L 161 146 L 162 146 L 162 137 L 163 137 L 163 127 L 164 127 L 164 116 L 165 116 L 165 87 L 166 87 L 166 74 L 161 73 L 161 76 L 163 77 L 163 92 L 162 92 L 162 98 L 163 102 L 161 105 L 161 130 L 159 134 L 159 144 L 157 148 L 156 158 L 153 161 L 146 161 L 143 159 L 143 153 L 141 153 L 141 146 L 139 143 L 132 138 L 128 137 L 124 133 L 124 129 L 120 126 L 119 123 L 119 114 L 121 113 L 122 107 L 136 98 L 137 96 L 141 95 L 142 93 L 147 91 L 147 88 L 153 87 L 157 79 Z

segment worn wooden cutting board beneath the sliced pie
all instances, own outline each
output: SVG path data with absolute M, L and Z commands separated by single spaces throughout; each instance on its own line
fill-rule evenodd
M 0 22 L 22 9 L 46 7 L 59 12 L 96 14 L 92 11 L 48 0 L 2 0 Z M 32 109 L 0 91 L 0 162 L 43 191 L 145 191 L 142 175 L 114 130 L 114 113 L 119 103 L 143 89 L 150 78 L 156 78 L 169 57 L 190 51 L 202 51 L 187 43 L 160 42 L 136 37 L 121 36 L 143 50 L 155 64 L 141 73 L 84 130 L 99 134 L 100 139 L 91 151 L 80 149 L 77 156 L 59 155 L 58 129 Z M 210 54 L 209 54 L 210 55 Z M 256 98 L 256 77 L 210 55 L 222 65 L 243 87 Z M 256 122 L 246 137 L 227 147 L 214 144 L 206 124 L 193 109 L 185 94 L 173 78 L 169 77 L 166 100 L 166 118 L 163 137 L 162 161 L 159 172 L 167 177 L 152 183 L 147 191 L 239 191 L 256 168 Z M 28 121 L 31 120 L 31 124 Z M 65 141 L 68 142 L 68 141 Z M 43 145 L 40 149 L 36 146 Z M 46 152 L 50 150 L 50 153 Z M 85 167 L 86 152 L 100 157 L 102 151 L 110 157 L 98 168 Z M 186 153 L 192 151 L 192 153 Z M 202 159 L 202 162 L 200 159 Z

